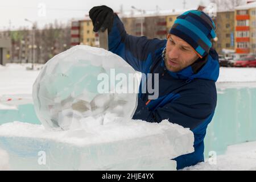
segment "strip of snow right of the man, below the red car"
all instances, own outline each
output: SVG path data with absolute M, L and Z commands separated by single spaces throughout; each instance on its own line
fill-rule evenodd
M 255 82 L 256 68 L 220 68 L 217 82 Z

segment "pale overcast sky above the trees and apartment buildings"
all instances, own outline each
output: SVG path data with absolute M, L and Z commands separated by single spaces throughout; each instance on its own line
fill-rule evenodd
M 207 5 L 209 0 L 186 0 L 186 2 L 185 7 L 193 9 L 200 2 Z M 1 0 L 0 30 L 7 30 L 10 26 L 11 29 L 17 29 L 20 26 L 30 28 L 31 23 L 25 22 L 25 18 L 33 22 L 37 21 L 41 27 L 55 19 L 66 23 L 68 19 L 84 17 L 93 6 L 98 5 L 107 5 L 115 11 L 118 11 L 121 5 L 125 11 L 130 11 L 131 6 L 138 9 L 155 10 L 157 5 L 161 10 L 172 10 L 183 9 L 183 0 Z M 44 6 L 46 11 L 44 11 Z

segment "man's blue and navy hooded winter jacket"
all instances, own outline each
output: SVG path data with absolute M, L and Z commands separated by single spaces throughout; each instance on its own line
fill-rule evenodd
M 217 52 L 210 49 L 207 56 L 191 66 L 180 72 L 170 72 L 162 56 L 166 43 L 167 40 L 128 35 L 115 15 L 109 32 L 109 51 L 121 56 L 136 71 L 159 73 L 159 97 L 148 102 L 150 94 L 139 93 L 133 119 L 158 123 L 168 119 L 189 128 L 194 134 L 195 152 L 174 159 L 177 169 L 181 169 L 204 161 L 204 137 L 217 103 L 215 82 L 220 66 Z

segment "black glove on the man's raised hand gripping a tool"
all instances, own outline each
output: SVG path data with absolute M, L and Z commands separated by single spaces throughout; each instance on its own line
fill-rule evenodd
M 114 22 L 114 11 L 108 6 L 94 6 L 89 11 L 90 19 L 93 22 L 93 31 L 111 31 Z

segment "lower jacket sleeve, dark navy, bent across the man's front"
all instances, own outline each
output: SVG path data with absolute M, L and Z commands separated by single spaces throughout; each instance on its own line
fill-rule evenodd
M 158 123 L 168 119 L 171 123 L 193 130 L 207 122 L 215 110 L 216 102 L 214 98 L 200 93 L 189 94 L 159 106 L 155 110 L 149 110 L 145 102 L 139 99 L 133 119 Z

